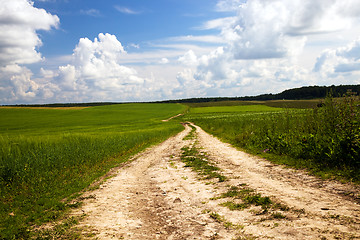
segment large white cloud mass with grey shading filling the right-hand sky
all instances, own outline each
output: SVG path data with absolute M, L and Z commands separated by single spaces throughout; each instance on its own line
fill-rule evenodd
M 358 71 L 359 42 L 325 51 L 314 68 L 318 73 L 297 64 L 308 36 L 348 28 L 358 19 L 357 6 L 354 0 L 221 0 L 217 10 L 235 16 L 208 21 L 203 29 L 220 30 L 224 46 L 202 56 L 185 53 L 179 62 L 187 68 L 177 79 L 193 86 L 207 83 L 203 95 L 234 96 L 323 84 L 319 73 Z

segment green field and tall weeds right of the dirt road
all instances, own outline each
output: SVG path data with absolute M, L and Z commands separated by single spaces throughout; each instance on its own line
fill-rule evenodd
M 275 163 L 359 183 L 359 98 L 348 93 L 318 103 L 314 109 L 261 105 L 192 108 L 184 120 Z

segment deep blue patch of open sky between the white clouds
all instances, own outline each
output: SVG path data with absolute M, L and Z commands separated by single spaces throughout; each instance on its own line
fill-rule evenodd
M 196 35 L 203 22 L 226 15 L 216 12 L 215 5 L 214 0 L 57 0 L 34 4 L 60 18 L 57 31 L 42 33 L 47 44 L 40 50 L 48 55 L 71 53 L 80 38 L 94 39 L 99 33 L 116 35 L 126 47 L 146 47 L 159 39 Z

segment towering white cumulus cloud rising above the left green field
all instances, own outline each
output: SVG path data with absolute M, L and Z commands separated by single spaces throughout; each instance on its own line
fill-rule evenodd
M 122 94 L 129 94 L 135 86 L 144 84 L 135 69 L 118 63 L 124 55 L 126 51 L 115 35 L 100 33 L 94 41 L 81 38 L 74 49 L 72 63 L 59 67 L 57 84 L 68 95 L 123 99 Z

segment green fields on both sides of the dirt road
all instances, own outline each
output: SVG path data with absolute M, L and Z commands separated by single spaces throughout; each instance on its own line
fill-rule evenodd
M 181 131 L 180 120 L 275 163 L 359 183 L 359 99 L 319 102 L 0 108 L 0 239 L 61 218 L 94 180 Z

